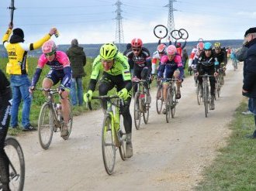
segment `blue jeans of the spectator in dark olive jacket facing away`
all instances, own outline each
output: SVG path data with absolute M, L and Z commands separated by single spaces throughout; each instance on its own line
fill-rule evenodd
M 76 89 L 78 89 L 78 93 Z M 81 77 L 72 78 L 71 80 L 71 104 L 83 104 L 83 86 L 81 84 Z

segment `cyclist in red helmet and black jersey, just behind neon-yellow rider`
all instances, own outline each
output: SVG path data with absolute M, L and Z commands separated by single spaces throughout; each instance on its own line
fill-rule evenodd
M 132 49 L 126 53 L 128 62 L 133 62 L 133 78 L 148 80 L 145 84 L 147 88 L 147 104 L 150 104 L 151 97 L 149 93 L 150 73 L 152 70 L 152 63 L 150 52 L 147 48 L 143 47 L 141 39 L 133 39 L 131 42 Z M 133 86 L 133 94 L 137 92 L 137 86 Z

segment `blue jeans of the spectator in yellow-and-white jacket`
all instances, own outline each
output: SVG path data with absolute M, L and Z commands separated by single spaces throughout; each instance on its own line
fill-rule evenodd
M 11 75 L 10 81 L 12 86 L 11 126 L 15 127 L 18 125 L 19 104 L 22 100 L 22 126 L 23 128 L 28 128 L 30 125 L 29 114 L 31 106 L 31 98 L 29 96 L 29 77 L 27 74 Z

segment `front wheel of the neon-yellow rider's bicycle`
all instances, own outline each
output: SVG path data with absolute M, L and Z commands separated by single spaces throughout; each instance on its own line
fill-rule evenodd
M 111 117 L 105 115 L 102 125 L 102 158 L 109 175 L 114 171 L 116 162 L 116 145 L 113 140 L 112 128 L 114 127 L 112 127 Z

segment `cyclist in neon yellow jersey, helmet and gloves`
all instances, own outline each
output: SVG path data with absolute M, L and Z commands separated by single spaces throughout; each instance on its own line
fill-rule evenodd
M 131 157 L 133 155 L 132 117 L 130 115 L 132 81 L 129 63 L 126 56 L 119 53 L 113 43 L 104 44 L 99 52 L 99 56 L 93 62 L 91 80 L 84 99 L 85 102 L 92 99 L 92 92 L 99 80 L 99 73 L 102 72 L 102 77 L 99 80 L 99 95 L 106 95 L 109 90 L 116 87 L 119 97 L 123 98 L 122 114 L 123 126 L 126 130 L 126 157 Z M 102 101 L 102 108 L 106 110 L 106 101 Z

